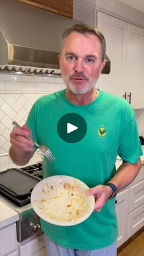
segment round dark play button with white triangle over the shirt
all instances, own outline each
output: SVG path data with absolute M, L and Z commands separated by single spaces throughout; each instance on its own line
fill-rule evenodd
M 81 115 L 68 113 L 59 119 L 57 123 L 57 133 L 65 142 L 79 142 L 87 133 L 87 123 Z

